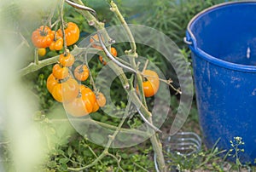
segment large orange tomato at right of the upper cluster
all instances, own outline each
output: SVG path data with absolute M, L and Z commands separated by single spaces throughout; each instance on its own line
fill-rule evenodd
M 63 37 L 63 33 L 61 29 L 59 29 L 57 32 L 61 35 L 61 37 Z M 79 26 L 77 26 L 73 22 L 68 22 L 64 32 L 65 32 L 67 46 L 77 43 L 80 35 Z

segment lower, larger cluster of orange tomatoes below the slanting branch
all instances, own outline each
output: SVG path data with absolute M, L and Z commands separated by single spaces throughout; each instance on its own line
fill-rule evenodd
M 55 100 L 63 103 L 69 114 L 81 117 L 105 106 L 106 98 L 101 92 L 95 93 L 80 83 L 90 76 L 88 67 L 81 64 L 71 72 L 73 64 L 73 54 L 60 54 L 59 63 L 53 66 L 47 79 L 47 89 Z

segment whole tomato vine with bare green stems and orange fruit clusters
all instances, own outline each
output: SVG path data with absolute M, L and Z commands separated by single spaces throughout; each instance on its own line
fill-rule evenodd
M 79 40 L 79 27 L 73 22 L 65 23 L 63 20 L 63 6 L 64 0 L 61 1 L 61 27 L 57 31 L 52 31 L 50 26 L 40 26 L 36 31 L 32 33 L 32 43 L 37 49 L 49 48 L 53 51 L 59 51 L 64 49 L 64 53 L 50 57 L 45 60 L 38 60 L 38 54 L 35 55 L 35 61 L 24 69 L 20 70 L 21 75 L 26 75 L 29 72 L 37 71 L 38 69 L 55 64 L 52 68 L 52 73 L 49 75 L 47 80 L 47 89 L 49 93 L 55 98 L 55 100 L 61 102 L 65 106 L 65 110 L 70 115 L 74 117 L 82 117 L 89 115 L 91 112 L 96 112 L 100 107 L 106 105 L 107 100 L 105 96 L 96 89 L 93 78 L 90 75 L 90 68 L 87 65 L 87 61 L 81 59 L 79 54 L 99 54 L 99 59 L 102 61 L 103 65 L 106 65 L 109 60 L 113 61 L 113 72 L 119 72 L 119 79 L 123 84 L 125 92 L 129 95 L 129 100 L 127 108 L 131 104 L 137 107 L 137 112 L 140 114 L 142 120 L 147 124 L 147 133 L 153 134 L 150 137 L 154 152 L 156 155 L 158 167 L 160 171 L 166 171 L 166 163 L 162 152 L 162 146 L 160 139 L 155 131 L 160 132 L 153 124 L 152 114 L 148 111 L 148 106 L 146 102 L 146 97 L 154 96 L 159 87 L 160 81 L 158 74 L 154 71 L 145 70 L 143 72 L 138 71 L 135 59 L 138 57 L 137 46 L 134 37 L 130 31 L 129 26 L 126 24 L 124 17 L 119 12 L 119 9 L 113 1 L 110 2 L 111 11 L 117 15 L 120 23 L 124 26 L 125 32 L 130 39 L 131 49 L 126 50 L 125 54 L 130 58 L 129 63 L 118 59 L 118 54 L 116 49 L 111 45 L 105 45 L 106 42 L 113 43 L 113 39 L 108 36 L 108 32 L 105 30 L 104 23 L 99 21 L 96 17 L 96 12 L 84 6 L 84 3 L 80 0 L 74 0 L 73 2 L 66 0 L 66 3 L 77 8 L 79 13 L 82 14 L 85 20 L 88 21 L 90 26 L 94 26 L 97 30 L 96 35 L 90 37 L 90 47 L 89 48 L 79 48 L 74 43 Z M 51 19 L 52 16 L 49 16 Z M 98 32 L 101 31 L 101 32 Z M 68 47 L 73 46 L 73 50 L 69 50 Z M 77 66 L 74 65 L 76 60 L 82 60 L 83 64 Z M 106 60 L 106 61 L 105 61 Z M 75 68 L 73 70 L 73 68 Z M 123 69 L 127 69 L 132 73 L 131 79 L 128 79 L 123 72 Z M 90 76 L 91 84 L 93 89 L 90 89 L 84 82 Z M 137 85 L 133 85 L 133 79 L 136 79 Z M 165 83 L 168 83 L 167 81 Z M 171 83 L 168 83 L 172 85 Z M 172 87 L 173 88 L 173 87 Z M 173 88 L 175 89 L 175 88 Z M 176 89 L 178 91 L 178 89 Z M 142 100 L 139 98 L 142 97 Z M 116 135 L 122 130 L 124 130 L 123 124 L 125 123 L 125 118 L 129 116 L 129 112 L 125 112 L 119 126 L 114 128 L 115 131 L 113 135 L 109 135 L 108 144 L 102 154 L 96 158 L 90 165 L 85 165 L 79 168 L 67 168 L 68 170 L 80 171 L 95 165 L 103 157 L 110 156 L 118 160 L 115 156 L 108 152 L 109 147 L 113 143 Z M 109 127 L 109 126 L 108 126 Z M 121 168 L 120 168 L 121 169 Z

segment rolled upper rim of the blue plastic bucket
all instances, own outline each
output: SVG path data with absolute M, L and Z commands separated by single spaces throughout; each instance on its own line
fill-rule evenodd
M 236 63 L 232 63 L 226 60 L 220 60 L 214 56 L 212 56 L 211 54 L 207 54 L 207 52 L 205 52 L 204 50 L 197 48 L 196 47 L 196 39 L 195 39 L 195 35 L 193 34 L 193 32 L 191 32 L 190 27 L 191 25 L 195 22 L 196 19 L 198 19 L 202 14 L 205 14 L 209 11 L 212 11 L 213 9 L 218 9 L 224 6 L 230 6 L 230 5 L 234 5 L 234 4 L 240 4 L 240 3 L 255 3 L 256 4 L 256 0 L 248 0 L 248 1 L 241 1 L 241 2 L 227 2 L 227 3 L 219 3 L 217 5 L 213 5 L 212 7 L 209 7 L 207 9 L 202 10 L 200 13 L 196 14 L 190 21 L 189 24 L 187 26 L 187 33 L 189 34 L 190 40 L 188 41 L 187 39 L 185 40 L 186 43 L 189 44 L 189 47 L 192 49 L 197 49 L 197 54 L 200 54 L 201 58 L 212 62 L 215 65 L 218 66 L 222 66 L 225 68 L 229 68 L 232 70 L 236 70 L 236 71 L 241 71 L 241 72 L 256 72 L 256 66 L 249 66 L 249 65 L 241 65 L 241 64 L 236 64 Z M 187 35 L 188 37 L 188 35 Z M 193 46 L 194 44 L 194 46 Z

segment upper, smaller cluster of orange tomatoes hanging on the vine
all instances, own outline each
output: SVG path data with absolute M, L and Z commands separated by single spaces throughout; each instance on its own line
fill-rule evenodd
M 79 26 L 73 22 L 68 22 L 64 29 L 67 46 L 73 45 L 79 40 Z M 38 48 L 38 54 L 44 56 L 45 48 L 50 50 L 63 49 L 63 32 L 61 29 L 52 31 L 49 26 L 40 26 L 32 32 L 32 43 Z

